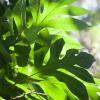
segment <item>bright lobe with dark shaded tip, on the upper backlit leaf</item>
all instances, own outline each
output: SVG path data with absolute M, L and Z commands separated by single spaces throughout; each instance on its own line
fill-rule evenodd
M 52 28 L 62 29 L 71 32 L 89 27 L 85 22 L 70 17 L 55 17 L 53 19 L 48 20 L 48 22 L 46 22 L 46 25 Z

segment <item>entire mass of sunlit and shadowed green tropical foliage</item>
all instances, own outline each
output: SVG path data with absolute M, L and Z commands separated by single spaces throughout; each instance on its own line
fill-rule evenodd
M 0 96 L 29 100 L 89 100 L 94 58 L 66 32 L 88 25 L 75 0 L 11 0 L 0 12 Z M 84 84 L 83 84 L 84 83 Z M 98 97 L 96 97 L 98 98 Z

